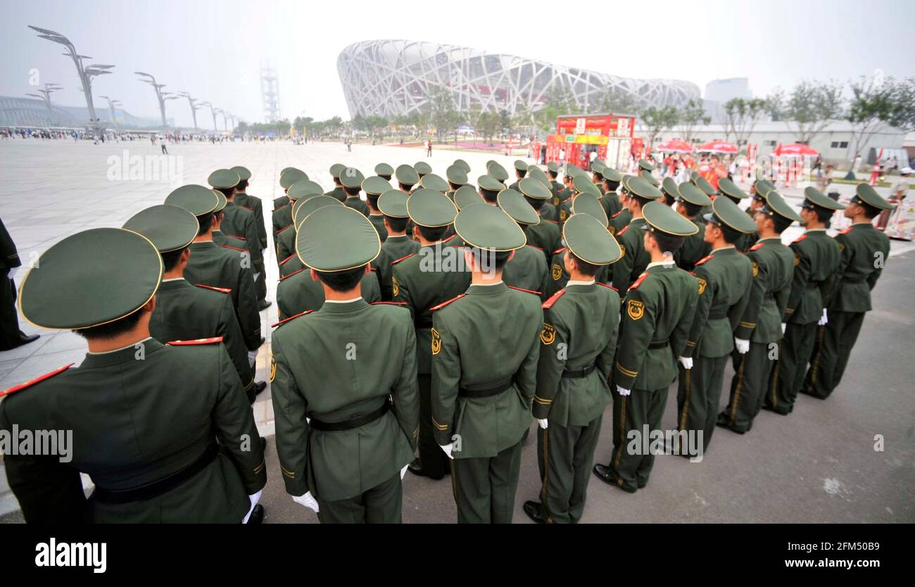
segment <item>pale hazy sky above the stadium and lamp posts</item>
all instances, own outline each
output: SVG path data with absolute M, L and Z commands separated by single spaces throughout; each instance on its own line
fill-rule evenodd
M 269 61 L 279 76 L 285 117 L 349 118 L 337 56 L 347 45 L 373 38 L 430 40 L 626 77 L 689 80 L 703 92 L 709 80 L 747 77 L 754 95 L 764 96 L 802 79 L 849 80 L 875 69 L 915 76 L 913 14 L 915 3 L 908 0 L 0 0 L 0 94 L 34 91 L 29 70 L 38 69 L 42 84 L 64 86 L 52 100 L 84 104 L 72 62 L 27 28 L 35 25 L 69 37 L 95 63 L 115 65 L 113 75 L 96 78 L 93 94 L 121 100 L 140 116 L 157 116 L 158 105 L 152 88 L 136 80 L 137 70 L 155 75 L 166 90 L 189 91 L 244 120 L 261 121 L 258 69 Z M 169 102 L 167 114 L 190 124 L 186 100 Z M 198 117 L 211 123 L 209 111 Z

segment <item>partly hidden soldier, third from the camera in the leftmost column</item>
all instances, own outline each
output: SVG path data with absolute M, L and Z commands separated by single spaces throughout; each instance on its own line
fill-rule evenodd
M 264 336 L 261 336 L 261 316 L 257 313 L 250 263 L 244 256 L 213 242 L 213 223 L 219 222 L 221 214 L 215 211 L 220 198 L 207 187 L 189 185 L 178 187 L 166 197 L 165 203 L 184 208 L 197 217 L 199 229 L 188 245 L 191 257 L 184 278 L 192 285 L 230 290 L 244 346 L 249 353 L 257 350 L 264 343 Z

